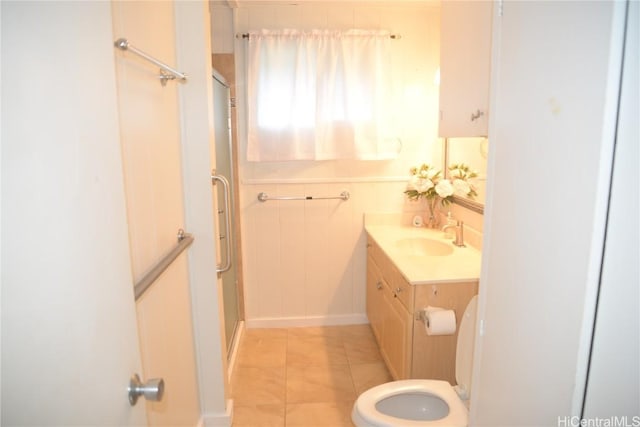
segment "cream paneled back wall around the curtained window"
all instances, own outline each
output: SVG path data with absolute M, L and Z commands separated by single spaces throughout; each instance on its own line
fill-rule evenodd
M 214 14 L 215 14 L 214 9 Z M 437 140 L 439 5 L 364 2 L 252 5 L 235 9 L 235 27 L 385 28 L 402 35 L 392 43 L 395 117 L 402 150 L 393 161 L 249 163 L 245 155 L 244 41 L 235 40 L 245 265 L 249 326 L 365 321 L 364 212 L 426 211 L 403 191 L 411 166 L 441 164 Z M 220 25 L 220 23 L 219 23 Z M 215 43 L 214 43 L 215 45 Z M 224 47 L 221 47 L 224 48 Z M 337 195 L 347 202 L 267 202 L 269 195 Z

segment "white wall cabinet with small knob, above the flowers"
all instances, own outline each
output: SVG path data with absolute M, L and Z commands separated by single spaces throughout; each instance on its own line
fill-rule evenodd
M 491 12 L 489 1 L 442 2 L 438 130 L 441 137 L 487 136 Z

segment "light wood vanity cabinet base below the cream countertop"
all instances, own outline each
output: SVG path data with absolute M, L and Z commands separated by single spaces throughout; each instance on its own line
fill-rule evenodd
M 380 353 L 396 380 L 441 379 L 455 384 L 455 335 L 428 336 L 420 311 L 427 305 L 453 309 L 457 325 L 478 293 L 478 281 L 411 285 L 369 238 L 367 316 Z

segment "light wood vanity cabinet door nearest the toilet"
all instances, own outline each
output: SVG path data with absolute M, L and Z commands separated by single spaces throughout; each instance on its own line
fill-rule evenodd
M 384 313 L 380 349 L 382 357 L 394 379 L 409 378 L 412 316 L 388 286 L 384 287 L 382 312 Z

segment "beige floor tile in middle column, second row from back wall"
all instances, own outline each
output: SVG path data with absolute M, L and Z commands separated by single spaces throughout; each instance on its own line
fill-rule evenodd
M 287 366 L 326 366 L 349 363 L 338 336 L 289 336 Z

